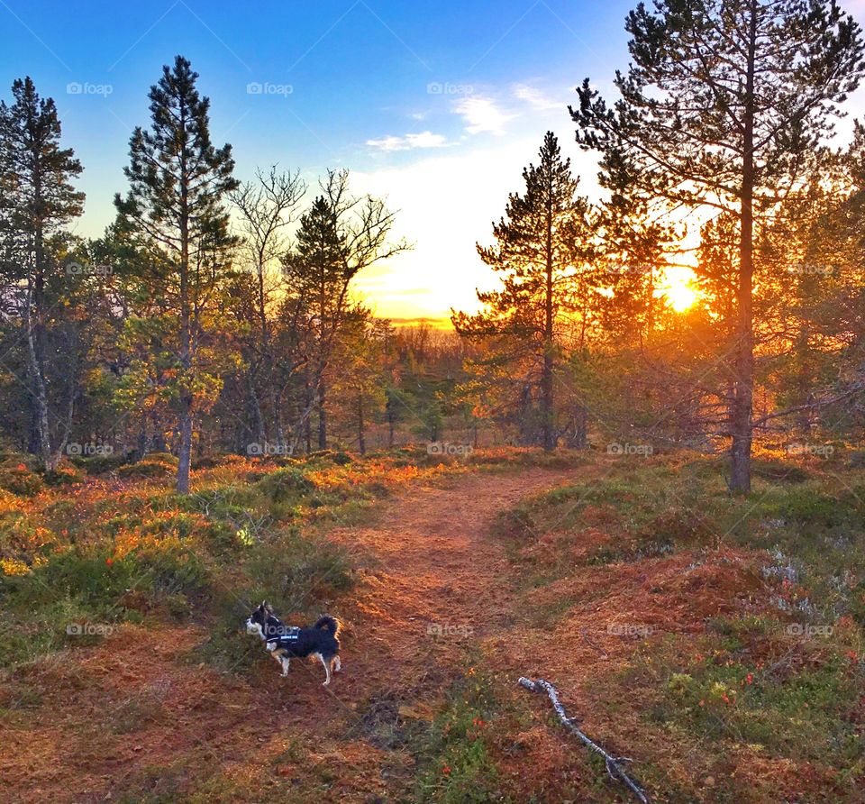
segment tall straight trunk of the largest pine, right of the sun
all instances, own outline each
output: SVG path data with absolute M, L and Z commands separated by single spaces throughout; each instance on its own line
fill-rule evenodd
M 746 106 L 742 140 L 742 214 L 739 242 L 739 288 L 737 302 L 738 347 L 736 352 L 736 387 L 733 395 L 731 425 L 730 489 L 740 494 L 751 491 L 751 440 L 754 398 L 754 334 L 753 334 L 753 197 L 754 197 L 754 59 L 757 43 L 757 8 L 751 0 L 751 22 L 748 40 L 748 72 L 745 82 Z

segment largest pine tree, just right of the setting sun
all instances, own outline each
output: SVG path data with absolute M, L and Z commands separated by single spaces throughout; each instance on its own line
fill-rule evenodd
M 588 79 L 571 109 L 601 182 L 669 210 L 738 219 L 731 488 L 751 489 L 755 227 L 796 190 L 858 86 L 859 26 L 833 0 L 658 0 L 628 15 L 633 62 L 610 109 Z M 627 192 L 627 191 L 626 191 Z

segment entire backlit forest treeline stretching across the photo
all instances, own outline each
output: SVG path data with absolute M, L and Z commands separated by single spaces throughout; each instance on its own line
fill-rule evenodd
M 370 434 L 724 445 L 747 491 L 755 434 L 858 442 L 865 128 L 831 135 L 860 82 L 859 26 L 823 0 L 709 0 L 640 5 L 626 27 L 615 103 L 586 79 L 569 109 L 603 199 L 580 195 L 548 133 L 478 233 L 491 289 L 479 313 L 453 311 L 455 333 L 358 301 L 354 279 L 410 246 L 347 172 L 234 177 L 182 57 L 150 89 L 114 223 L 75 236 L 82 166 L 53 101 L 15 81 L 0 105 L 7 444 L 46 471 L 174 452 L 180 491 L 196 457 L 364 452 Z M 696 292 L 678 312 L 663 288 L 682 266 Z

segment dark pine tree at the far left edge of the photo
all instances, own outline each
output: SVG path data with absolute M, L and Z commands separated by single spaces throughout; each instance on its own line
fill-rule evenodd
M 59 446 L 52 443 L 49 398 L 49 319 L 61 272 L 50 238 L 81 215 L 84 194 L 72 180 L 81 164 L 60 147 L 60 122 L 51 98 L 42 99 L 31 78 L 12 87 L 14 103 L 0 103 L 0 236 L 3 272 L 14 288 L 23 319 L 28 388 L 32 408 L 31 443 L 46 470 L 59 462 L 71 422 L 76 391 L 68 379 L 68 414 Z M 52 282 L 52 279 L 54 281 Z M 62 281 L 62 280 L 60 280 Z M 62 290 L 57 290 L 62 293 Z

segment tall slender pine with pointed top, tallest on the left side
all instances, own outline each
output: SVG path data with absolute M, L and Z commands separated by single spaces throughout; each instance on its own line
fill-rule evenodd
M 115 198 L 126 224 L 162 251 L 173 269 L 182 494 L 189 490 L 196 397 L 203 407 L 219 384 L 199 358 L 234 243 L 225 201 L 238 187 L 231 145 L 217 149 L 210 140 L 210 101 L 199 95 L 197 78 L 189 61 L 178 56 L 150 87 L 151 127 L 132 133 L 130 164 L 124 169 L 129 195 Z

